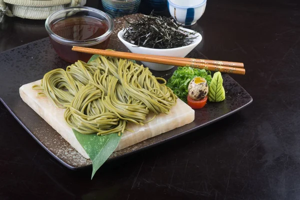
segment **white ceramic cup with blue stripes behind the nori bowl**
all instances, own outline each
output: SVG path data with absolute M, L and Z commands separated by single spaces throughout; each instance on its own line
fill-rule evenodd
M 171 16 L 180 25 L 193 25 L 204 13 L 206 0 L 167 0 Z

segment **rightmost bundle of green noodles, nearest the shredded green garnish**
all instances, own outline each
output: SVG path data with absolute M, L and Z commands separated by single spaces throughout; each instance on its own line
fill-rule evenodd
M 156 115 L 168 114 L 170 107 L 176 103 L 177 96 L 165 86 L 166 81 L 153 76 L 148 68 L 123 59 L 102 58 L 103 56 L 98 57 L 90 64 L 109 67 L 111 73 L 120 81 L 125 93 L 143 102 Z M 164 82 L 160 84 L 157 79 Z

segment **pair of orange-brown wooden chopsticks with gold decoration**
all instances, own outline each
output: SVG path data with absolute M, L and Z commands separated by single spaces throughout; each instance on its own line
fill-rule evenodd
M 160 64 L 168 64 L 175 66 L 186 66 L 189 65 L 194 68 L 206 69 L 210 71 L 220 71 L 225 73 L 235 73 L 235 74 L 245 74 L 245 69 L 243 68 L 243 63 L 241 62 L 229 62 L 229 61 L 219 61 L 219 60 L 208 60 L 208 59 L 195 59 L 186 57 L 172 57 L 172 56 L 162 56 L 162 55 L 148 55 L 130 52 L 121 52 L 113 50 L 102 50 L 95 48 L 87 48 L 80 46 L 73 46 L 72 50 L 99 54 L 104 56 L 119 57 L 123 59 L 134 59 L 139 61 L 154 62 Z

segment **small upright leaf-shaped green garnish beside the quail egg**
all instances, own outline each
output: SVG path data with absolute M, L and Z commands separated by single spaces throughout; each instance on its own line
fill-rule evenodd
M 223 78 L 221 72 L 215 72 L 211 79 L 208 89 L 208 100 L 219 102 L 225 99 L 225 90 L 223 87 Z

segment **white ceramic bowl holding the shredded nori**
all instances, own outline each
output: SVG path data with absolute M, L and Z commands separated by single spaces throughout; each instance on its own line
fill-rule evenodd
M 193 32 L 194 30 L 190 30 L 187 28 L 181 28 L 182 30 Z M 133 53 L 141 53 L 141 54 L 149 54 L 149 55 L 165 55 L 165 56 L 175 56 L 175 57 L 185 57 L 200 41 L 202 40 L 202 36 L 200 33 L 196 32 L 192 37 L 197 36 L 192 43 L 186 46 L 177 47 L 177 48 L 166 48 L 166 49 L 157 49 L 157 48 L 146 48 L 141 46 L 136 46 L 132 43 L 129 43 L 123 38 L 123 33 L 125 29 L 120 30 L 117 33 L 119 40 Z M 153 69 L 156 71 L 165 71 L 168 69 L 173 68 L 173 65 L 166 65 L 166 64 L 158 64 L 153 62 L 141 62 L 144 66 L 148 67 L 149 69 Z

